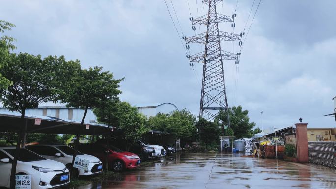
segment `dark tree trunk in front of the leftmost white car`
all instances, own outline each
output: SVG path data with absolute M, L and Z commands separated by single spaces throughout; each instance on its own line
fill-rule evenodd
M 24 135 L 24 127 L 25 125 L 27 125 L 27 120 L 25 120 L 25 112 L 26 112 L 26 108 L 21 110 L 21 121 L 22 121 L 22 125 L 20 125 L 20 129 L 19 129 L 19 133 L 18 133 L 18 140 L 16 143 L 16 148 L 15 148 L 15 155 L 13 158 L 13 163 L 12 163 L 12 169 L 10 172 L 10 189 L 15 189 L 15 173 L 16 173 L 16 165 L 18 162 L 18 157 L 20 155 L 20 145 L 21 145 L 21 141 Z

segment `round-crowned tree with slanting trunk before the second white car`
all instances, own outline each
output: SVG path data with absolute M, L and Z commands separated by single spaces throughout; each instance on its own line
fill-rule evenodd
M 104 107 L 107 102 L 117 99 L 121 91 L 118 89 L 123 79 L 114 79 L 113 73 L 102 71 L 103 67 L 94 67 L 82 69 L 77 78 L 70 83 L 72 86 L 66 94 L 61 96 L 61 102 L 67 103 L 68 107 L 76 107 L 84 109 L 84 115 L 81 125 L 84 124 L 88 108 Z M 77 150 L 80 135 L 77 135 L 75 148 Z M 76 154 L 72 163 L 75 162 Z M 75 178 L 76 175 L 72 175 Z

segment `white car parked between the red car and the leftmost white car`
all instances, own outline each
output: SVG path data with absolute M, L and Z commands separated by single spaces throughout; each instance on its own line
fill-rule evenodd
M 44 158 L 48 158 L 51 160 L 55 160 L 57 162 L 61 162 L 65 164 L 65 166 L 72 170 L 72 158 L 74 150 L 65 145 L 31 145 L 26 146 L 27 149 L 41 155 Z M 101 173 L 103 171 L 102 162 L 94 156 L 81 153 L 77 151 L 77 157 L 83 158 L 85 160 L 90 161 L 88 164 L 88 170 L 84 171 L 83 169 L 76 169 L 79 176 L 93 175 L 97 173 Z

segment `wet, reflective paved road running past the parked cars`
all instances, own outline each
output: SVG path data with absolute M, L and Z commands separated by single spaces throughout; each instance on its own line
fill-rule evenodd
M 79 189 L 336 189 L 335 169 L 240 155 L 174 154 Z

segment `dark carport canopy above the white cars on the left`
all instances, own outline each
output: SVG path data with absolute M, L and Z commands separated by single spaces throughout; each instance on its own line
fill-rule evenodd
M 106 135 L 112 127 L 98 123 L 84 123 L 64 120 L 56 117 L 25 115 L 27 133 L 72 134 L 72 135 Z M 0 132 L 19 132 L 23 124 L 21 114 L 17 112 L 0 113 Z M 89 126 L 87 126 L 89 125 Z

